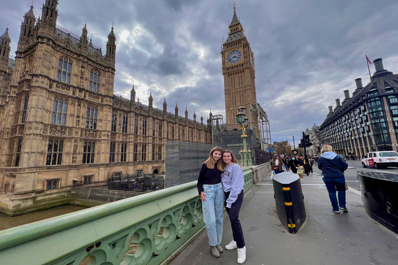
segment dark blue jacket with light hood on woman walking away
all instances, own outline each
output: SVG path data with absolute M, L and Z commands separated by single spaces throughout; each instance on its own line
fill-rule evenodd
M 340 169 L 336 168 L 335 165 Z M 344 173 L 348 168 L 348 164 L 334 152 L 324 152 L 318 159 L 318 169 L 322 171 L 324 178 L 344 177 Z

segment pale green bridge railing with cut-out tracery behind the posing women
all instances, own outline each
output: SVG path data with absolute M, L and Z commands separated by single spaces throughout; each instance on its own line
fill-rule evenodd
M 0 231 L 0 264 L 166 264 L 203 230 L 193 181 Z

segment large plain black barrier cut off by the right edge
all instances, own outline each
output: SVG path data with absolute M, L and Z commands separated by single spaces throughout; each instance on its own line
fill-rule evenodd
M 398 234 L 398 175 L 357 171 L 367 214 Z

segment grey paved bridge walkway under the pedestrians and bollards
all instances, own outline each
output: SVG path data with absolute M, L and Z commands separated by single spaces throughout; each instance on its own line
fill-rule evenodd
M 316 169 L 301 179 L 306 221 L 297 234 L 290 234 L 276 215 L 270 176 L 246 193 L 240 220 L 246 242 L 247 265 L 397 265 L 398 234 L 380 225 L 365 212 L 356 190 L 346 192 L 348 213 L 333 213 L 330 200 Z M 232 240 L 224 214 L 222 246 Z M 237 264 L 235 250 L 220 258 L 210 254 L 204 231 L 171 264 Z

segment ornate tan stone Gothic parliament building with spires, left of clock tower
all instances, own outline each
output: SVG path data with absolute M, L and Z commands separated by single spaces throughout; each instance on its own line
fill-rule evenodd
M 15 60 L 8 28 L 0 39 L 0 212 L 28 211 L 36 200 L 61 196 L 73 181 L 113 173 L 163 173 L 168 139 L 211 143 L 203 123 L 114 95 L 116 36 L 105 55 L 88 38 L 57 25 L 58 0 L 30 7 L 20 25 Z M 21 17 L 22 18 L 22 17 Z M 43 204 L 42 207 L 46 205 Z

